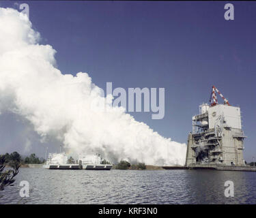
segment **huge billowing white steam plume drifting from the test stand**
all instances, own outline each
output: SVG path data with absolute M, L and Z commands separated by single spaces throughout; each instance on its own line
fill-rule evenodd
M 100 88 L 86 73 L 61 74 L 55 50 L 39 40 L 25 14 L 0 7 L 0 112 L 23 116 L 42 138 L 55 137 L 72 153 L 184 164 L 186 144 L 163 138 L 122 108 L 92 110 L 92 103 L 105 100 Z

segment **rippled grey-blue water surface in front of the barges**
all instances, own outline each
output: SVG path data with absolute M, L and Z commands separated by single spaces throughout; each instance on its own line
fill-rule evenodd
M 0 204 L 20 201 L 20 181 L 30 185 L 26 204 L 256 204 L 256 172 L 21 168 Z M 234 183 L 233 198 L 225 181 Z

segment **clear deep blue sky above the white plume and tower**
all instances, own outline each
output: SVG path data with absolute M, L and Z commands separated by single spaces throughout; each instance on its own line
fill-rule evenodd
M 240 106 L 248 136 L 244 157 L 256 157 L 255 2 L 231 2 L 235 20 L 224 19 L 225 1 L 22 3 L 29 4 L 41 43 L 57 50 L 63 74 L 87 72 L 104 90 L 106 82 L 126 90 L 164 87 L 164 119 L 131 113 L 162 136 L 186 142 L 192 116 L 208 102 L 214 84 L 231 105 Z M 0 6 L 16 8 L 14 1 Z

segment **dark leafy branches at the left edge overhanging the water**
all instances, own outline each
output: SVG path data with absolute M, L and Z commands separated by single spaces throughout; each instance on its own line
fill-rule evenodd
M 13 170 L 4 171 L 5 163 L 6 163 L 5 155 L 0 155 L 0 191 L 3 191 L 5 187 L 14 183 L 15 181 L 14 177 L 18 174 L 18 169 L 20 168 L 20 162 L 12 160 Z

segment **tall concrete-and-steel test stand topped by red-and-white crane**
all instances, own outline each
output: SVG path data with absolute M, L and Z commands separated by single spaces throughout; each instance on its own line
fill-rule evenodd
M 216 93 L 224 104 L 218 104 Z M 192 118 L 193 131 L 188 135 L 186 166 L 195 164 L 220 164 L 244 166 L 244 132 L 240 108 L 212 87 L 209 104 L 199 106 L 199 114 Z

